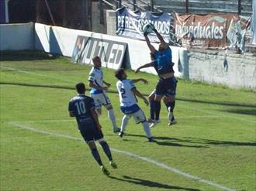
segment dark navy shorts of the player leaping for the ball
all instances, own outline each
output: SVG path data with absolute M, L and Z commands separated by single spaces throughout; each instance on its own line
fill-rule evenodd
M 155 94 L 167 97 L 175 96 L 177 80 L 175 77 L 160 79 L 157 83 Z

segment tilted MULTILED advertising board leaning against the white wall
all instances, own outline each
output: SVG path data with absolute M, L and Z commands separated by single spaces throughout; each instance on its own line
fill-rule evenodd
M 88 36 L 78 36 L 71 60 L 77 63 L 92 64 L 93 56 L 99 56 L 102 67 L 118 69 L 122 66 L 126 43 Z

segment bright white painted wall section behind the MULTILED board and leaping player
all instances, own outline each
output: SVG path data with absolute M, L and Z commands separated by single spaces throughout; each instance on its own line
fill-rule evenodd
M 125 62 L 126 67 L 130 67 L 132 70 L 135 70 L 143 63 L 150 62 L 150 51 L 146 42 L 144 41 L 127 39 L 118 36 L 109 36 L 95 32 L 67 29 L 59 26 L 46 26 L 39 23 L 35 24 L 35 32 L 36 49 L 40 49 L 48 53 L 58 53 L 64 56 L 71 56 L 77 36 L 81 35 L 127 43 L 129 55 L 126 56 Z M 158 48 L 156 43 L 153 45 L 156 47 L 156 49 Z M 186 49 L 171 46 L 171 50 L 172 60 L 175 63 L 175 76 L 182 77 L 183 73 L 178 72 L 178 58 L 179 55 L 186 55 Z M 156 74 L 154 68 L 144 69 L 142 71 Z

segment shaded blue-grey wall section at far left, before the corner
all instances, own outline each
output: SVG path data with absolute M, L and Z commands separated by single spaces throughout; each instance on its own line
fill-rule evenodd
M 33 49 L 33 28 L 33 22 L 0 25 L 0 50 Z

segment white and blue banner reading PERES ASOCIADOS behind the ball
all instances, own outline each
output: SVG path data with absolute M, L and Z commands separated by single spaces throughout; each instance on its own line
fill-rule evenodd
M 170 39 L 171 20 L 173 20 L 171 17 L 172 15 L 166 12 L 133 12 L 124 7 L 116 11 L 116 35 L 144 40 L 142 26 L 150 22 L 163 36 L 164 40 L 168 42 Z M 159 39 L 157 39 L 154 32 L 151 32 L 148 37 L 150 42 L 159 43 Z

